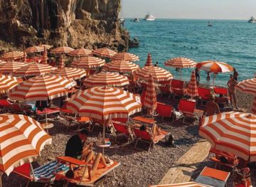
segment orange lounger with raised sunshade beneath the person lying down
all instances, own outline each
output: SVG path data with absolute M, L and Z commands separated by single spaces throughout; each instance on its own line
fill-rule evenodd
M 59 161 L 64 161 L 66 163 L 69 164 L 73 164 L 75 166 L 78 166 L 78 169 L 80 169 L 80 171 L 82 171 L 82 173 L 85 173 L 86 169 L 90 168 L 92 166 L 92 164 L 87 164 L 84 161 L 80 161 L 78 159 L 73 159 L 69 156 L 59 156 L 57 157 L 57 159 Z M 97 171 L 94 173 L 94 175 L 92 176 L 91 179 L 89 178 L 83 178 L 83 176 L 72 179 L 72 178 L 68 178 L 64 175 L 64 173 L 58 173 L 56 174 L 56 180 L 64 180 L 66 181 L 65 186 L 68 186 L 69 183 L 73 183 L 76 185 L 80 185 L 80 186 L 93 186 L 93 184 L 98 181 L 100 178 L 102 178 L 103 176 L 107 175 L 107 173 L 110 173 L 110 171 L 114 172 L 114 169 L 116 169 L 118 166 L 120 166 L 120 163 L 118 161 L 112 161 L 112 164 L 110 164 L 110 166 L 107 167 L 102 167 L 102 166 L 98 166 Z M 85 180 L 83 180 L 85 179 Z

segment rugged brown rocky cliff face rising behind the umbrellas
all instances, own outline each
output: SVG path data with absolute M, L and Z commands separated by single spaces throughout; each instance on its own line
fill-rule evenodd
M 0 40 L 25 48 L 53 46 L 127 48 L 120 0 L 0 0 Z M 1 48 L 1 46 L 0 46 Z

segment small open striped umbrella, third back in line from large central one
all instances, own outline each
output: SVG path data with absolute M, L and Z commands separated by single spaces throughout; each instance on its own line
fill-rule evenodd
M 73 68 L 97 68 L 102 65 L 105 65 L 105 60 L 102 60 L 101 58 L 93 57 L 93 56 L 86 56 L 83 58 L 79 58 L 77 60 L 74 60 L 71 63 L 71 67 Z

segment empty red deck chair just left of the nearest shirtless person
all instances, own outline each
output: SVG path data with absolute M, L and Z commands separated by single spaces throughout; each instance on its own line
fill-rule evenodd
M 178 111 L 183 113 L 183 122 L 185 122 L 186 117 L 193 117 L 194 119 L 194 124 L 196 124 L 196 114 L 195 114 L 195 109 L 196 109 L 196 102 L 190 101 L 190 100 L 185 100 L 181 99 L 179 100 L 178 103 Z

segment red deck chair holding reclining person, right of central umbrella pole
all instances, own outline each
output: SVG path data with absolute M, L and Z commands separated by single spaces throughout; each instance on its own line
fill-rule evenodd
M 138 142 L 143 141 L 149 144 L 148 151 L 150 151 L 151 146 L 153 146 L 154 144 L 157 144 L 161 139 L 165 139 L 166 135 L 169 134 L 169 132 L 166 132 L 164 130 L 161 130 L 161 134 L 154 135 L 154 136 L 152 136 L 150 132 L 143 131 L 140 129 L 133 129 L 133 132 L 135 137 L 137 138 L 137 141 L 134 147 L 137 148 Z

